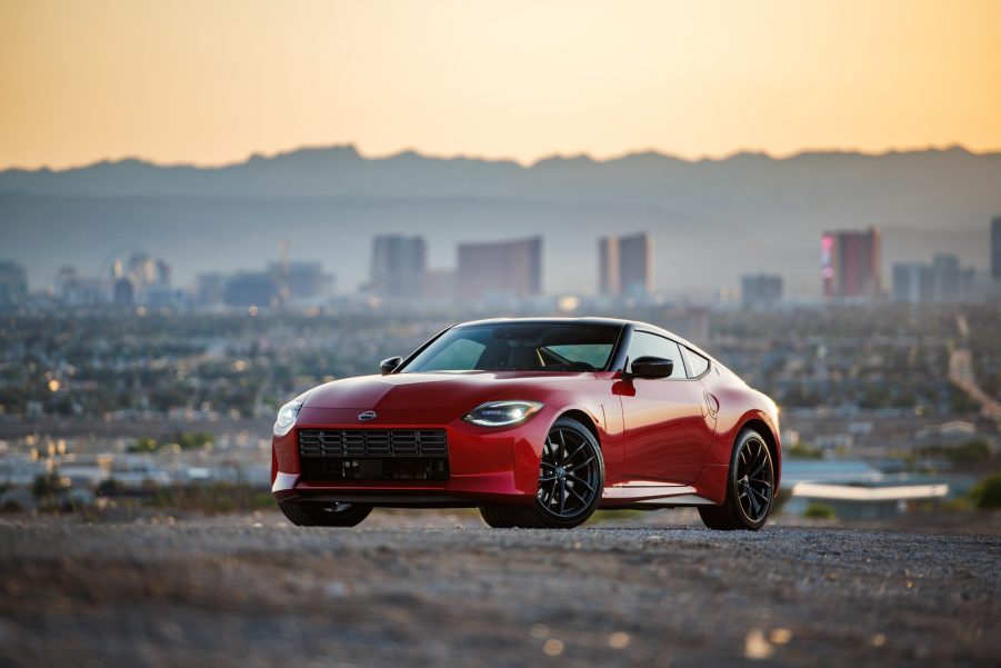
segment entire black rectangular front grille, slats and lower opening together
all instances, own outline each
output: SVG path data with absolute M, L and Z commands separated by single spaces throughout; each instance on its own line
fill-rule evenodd
M 444 429 L 300 429 L 303 480 L 448 480 Z

